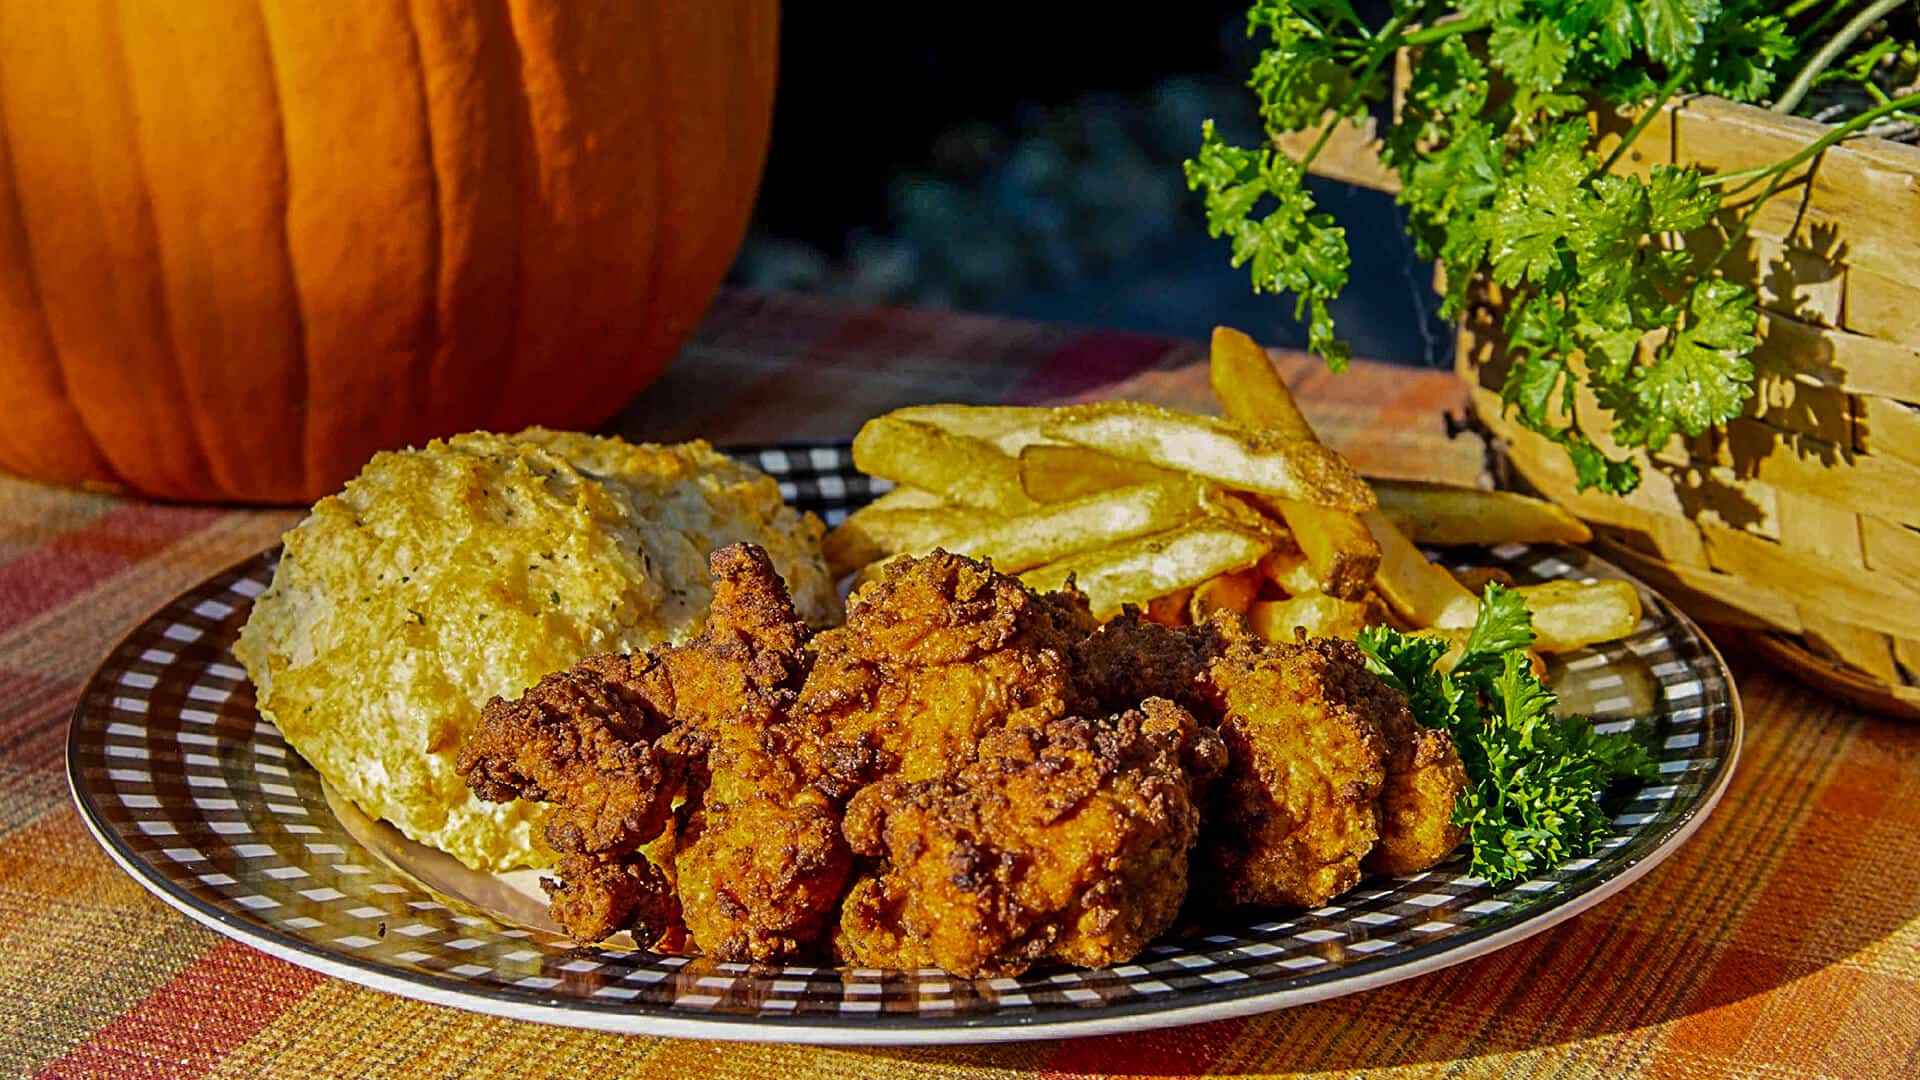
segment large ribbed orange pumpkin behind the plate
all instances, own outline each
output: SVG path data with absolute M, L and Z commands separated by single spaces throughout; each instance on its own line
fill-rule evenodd
M 776 0 L 0 4 L 0 467 L 307 502 L 693 331 Z

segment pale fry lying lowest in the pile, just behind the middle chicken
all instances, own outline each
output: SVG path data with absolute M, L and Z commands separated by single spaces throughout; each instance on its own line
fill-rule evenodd
M 1215 575 L 1252 567 L 1271 546 L 1258 532 L 1221 521 L 1196 521 L 1098 552 L 1068 555 L 1020 575 L 1020 580 L 1048 592 L 1073 578 L 1087 594 L 1094 619 L 1110 619 L 1127 603 L 1146 603 Z

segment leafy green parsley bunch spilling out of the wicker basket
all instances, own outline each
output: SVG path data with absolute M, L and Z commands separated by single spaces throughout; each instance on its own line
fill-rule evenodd
M 1805 40 L 1826 25 L 1809 4 L 1768 0 L 1394 0 L 1369 27 L 1348 0 L 1256 0 L 1248 33 L 1265 37 L 1248 86 L 1269 138 L 1319 129 L 1290 160 L 1273 144 L 1229 144 L 1212 123 L 1187 161 L 1208 231 L 1233 242 L 1256 292 L 1292 292 L 1308 344 L 1340 369 L 1352 352 L 1329 304 L 1346 286 L 1346 231 L 1317 211 L 1308 167 L 1334 125 L 1363 119 L 1386 94 L 1384 61 L 1415 50 L 1382 160 L 1421 258 L 1448 282 L 1442 313 L 1459 315 L 1476 281 L 1507 294 L 1511 367 L 1501 402 L 1521 425 L 1572 459 L 1578 486 L 1624 494 L 1640 482 L 1628 457 L 1605 452 L 1574 409 L 1578 386 L 1613 413 L 1619 448 L 1661 448 L 1740 415 L 1753 396 L 1755 294 L 1716 275 L 1759 206 L 1832 142 L 1884 117 L 1910 115 L 1920 96 L 1872 90 L 1874 108 L 1836 125 L 1799 154 L 1761 169 L 1707 177 L 1659 165 L 1645 177 L 1611 167 L 1678 92 L 1759 102 Z M 1845 8 L 1834 4 L 1830 8 Z M 1799 71 L 1793 90 L 1864 33 L 1866 12 Z M 1866 79 L 1876 58 L 1843 67 Z M 1642 119 L 1599 156 L 1592 104 L 1636 106 Z M 1759 198 L 1738 196 L 1763 184 Z M 1736 206 L 1738 204 L 1738 206 Z M 1716 254 L 1695 259 L 1680 238 L 1726 229 Z

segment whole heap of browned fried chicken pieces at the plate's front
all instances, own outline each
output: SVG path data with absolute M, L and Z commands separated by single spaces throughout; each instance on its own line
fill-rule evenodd
M 490 701 L 461 751 L 478 794 L 551 803 L 576 940 L 1108 965 L 1167 928 L 1194 859 L 1229 903 L 1321 903 L 1382 822 L 1425 842 L 1382 849 L 1402 863 L 1452 849 L 1427 821 L 1448 807 L 1402 792 L 1432 784 L 1386 784 L 1452 744 L 1396 755 L 1415 724 L 1352 644 L 1267 644 L 1225 609 L 1096 625 L 1079 592 L 947 552 L 887 563 L 820 632 L 751 546 L 712 575 L 699 638 Z

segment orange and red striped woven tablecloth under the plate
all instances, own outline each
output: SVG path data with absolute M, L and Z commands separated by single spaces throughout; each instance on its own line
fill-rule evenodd
M 1208 407 L 1204 350 L 1137 334 L 728 294 L 616 429 L 849 436 L 927 400 Z M 1471 479 L 1444 373 L 1286 357 L 1367 471 Z M 6 423 L 0 419 L 0 423 Z M 1747 749 L 1707 826 L 1597 909 L 1492 957 L 1248 1020 L 973 1049 L 620 1038 L 361 990 L 150 899 L 61 778 L 81 682 L 140 617 L 288 511 L 0 479 L 0 1074 L 38 1076 L 1920 1076 L 1920 728 L 1734 657 Z

